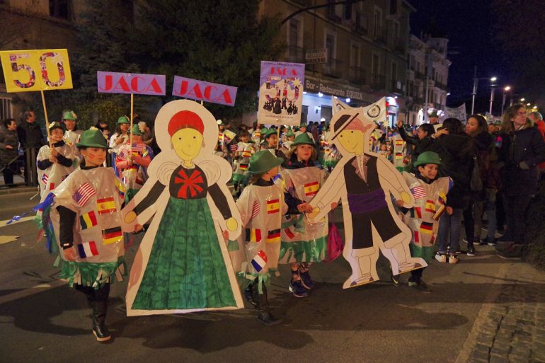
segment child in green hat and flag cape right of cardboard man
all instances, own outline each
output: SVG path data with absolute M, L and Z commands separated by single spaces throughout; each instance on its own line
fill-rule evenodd
M 444 212 L 452 214 L 452 208 L 445 205 L 452 180 L 448 177 L 437 178 L 440 165 L 439 155 L 432 151 L 425 151 L 418 156 L 414 163 L 417 170 L 415 174 L 403 172 L 403 179 L 415 199 L 413 208 L 401 207 L 401 211 L 404 213 L 403 221 L 413 233 L 409 245 L 411 255 L 423 258 L 428 264 L 434 255 L 439 219 Z M 403 202 L 399 202 L 398 205 L 401 206 Z M 432 292 L 428 284 L 422 280 L 424 270 L 425 268 L 412 270 L 408 285 L 423 292 Z

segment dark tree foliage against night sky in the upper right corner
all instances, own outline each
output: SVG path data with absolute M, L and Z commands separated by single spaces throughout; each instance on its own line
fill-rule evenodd
M 515 89 L 530 97 L 545 99 L 545 11 L 541 0 L 494 0 L 495 41 L 503 50 Z

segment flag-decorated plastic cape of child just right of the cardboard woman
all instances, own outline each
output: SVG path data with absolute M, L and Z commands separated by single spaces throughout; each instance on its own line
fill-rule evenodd
M 287 212 L 284 194 L 277 185 L 248 185 L 236 207 L 241 213 L 243 234 L 237 241 L 229 241 L 229 255 L 245 289 L 258 282 L 259 292 L 268 283 L 270 273 L 277 272 L 280 253 L 279 232 L 282 214 Z

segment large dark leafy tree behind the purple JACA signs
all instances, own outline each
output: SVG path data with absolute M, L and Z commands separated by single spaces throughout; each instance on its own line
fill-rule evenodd
M 259 3 L 141 0 L 130 57 L 168 82 L 178 75 L 238 87 L 233 108 L 207 105 L 216 117 L 255 110 L 260 61 L 277 59 L 285 46 L 278 41 L 280 19 L 258 18 Z

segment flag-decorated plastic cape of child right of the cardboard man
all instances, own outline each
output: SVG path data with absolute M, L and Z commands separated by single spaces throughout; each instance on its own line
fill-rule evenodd
M 437 210 L 444 211 L 452 183 L 448 177 L 437 178 L 428 184 L 411 173 L 403 172 L 402 175 L 415 199 L 414 207 L 403 214 L 403 222 L 412 232 L 411 255 L 430 263 L 435 253 L 433 245 L 441 217 Z

